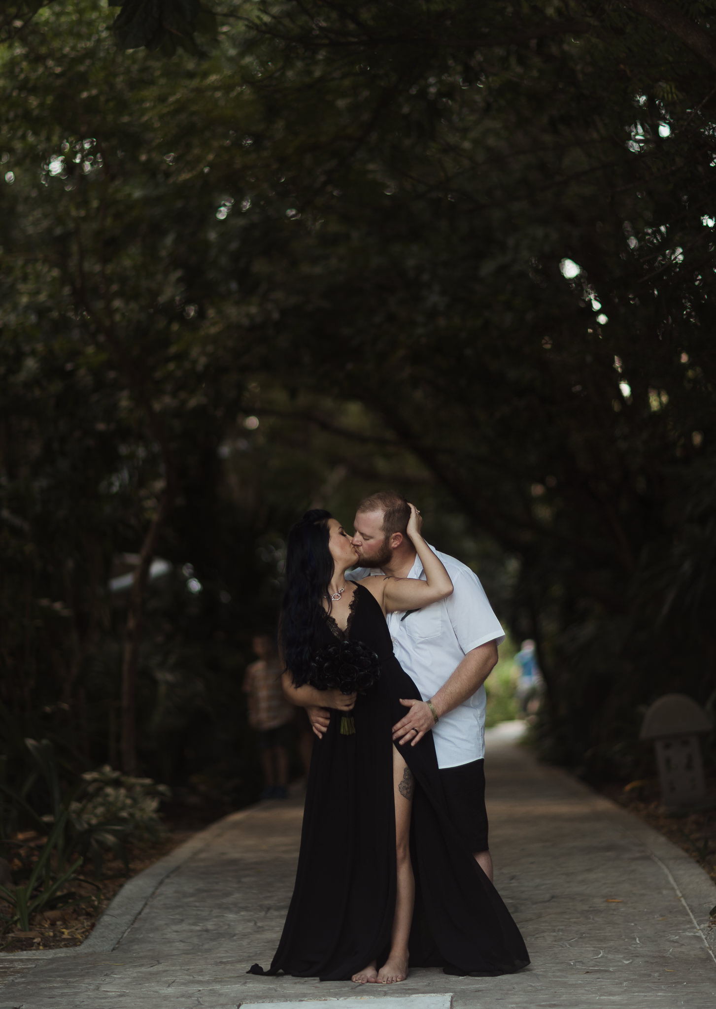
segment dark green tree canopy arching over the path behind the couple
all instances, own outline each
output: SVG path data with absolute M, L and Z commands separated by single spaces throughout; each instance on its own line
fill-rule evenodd
M 226 13 L 202 63 L 81 2 L 3 51 L 4 703 L 115 762 L 107 582 L 171 478 L 141 759 L 247 801 L 285 530 L 397 483 L 537 641 L 552 759 L 634 777 L 716 655 L 708 62 L 624 5 Z

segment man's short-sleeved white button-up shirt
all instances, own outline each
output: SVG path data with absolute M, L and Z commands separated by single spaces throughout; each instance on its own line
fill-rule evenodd
M 422 609 L 388 613 L 388 628 L 398 662 L 412 678 L 423 700 L 449 679 L 468 652 L 489 641 L 500 644 L 505 632 L 493 612 L 480 579 L 467 564 L 435 550 L 452 579 L 452 595 Z M 355 568 L 348 577 L 360 581 L 383 574 Z M 409 578 L 425 579 L 419 557 Z M 438 767 L 457 767 L 485 756 L 485 687 L 443 714 L 432 730 Z

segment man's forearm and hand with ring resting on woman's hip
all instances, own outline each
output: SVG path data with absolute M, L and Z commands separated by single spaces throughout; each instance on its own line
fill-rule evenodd
M 468 652 L 449 679 L 430 698 L 438 718 L 458 707 L 480 689 L 497 665 L 497 645 L 494 641 L 488 641 Z M 406 743 L 415 746 L 432 728 L 435 719 L 426 701 L 401 697 L 400 703 L 410 710 L 393 726 L 393 741 L 400 742 L 401 746 Z

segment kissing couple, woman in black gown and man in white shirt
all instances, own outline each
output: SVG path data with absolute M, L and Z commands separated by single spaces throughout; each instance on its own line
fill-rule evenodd
M 269 970 L 391 984 L 411 967 L 529 963 L 492 884 L 485 688 L 504 639 L 477 576 L 423 539 L 398 493 L 291 530 L 284 690 L 317 737 L 296 884 Z M 407 709 L 407 710 L 406 710 Z

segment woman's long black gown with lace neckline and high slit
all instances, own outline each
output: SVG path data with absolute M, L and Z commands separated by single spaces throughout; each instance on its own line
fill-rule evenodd
M 401 697 L 418 690 L 393 654 L 388 625 L 371 592 L 356 585 L 345 635 L 326 614 L 322 629 L 361 641 L 377 655 L 381 677 L 353 709 L 354 735 L 341 714 L 313 748 L 296 885 L 271 968 L 342 981 L 390 949 L 396 896 L 392 726 L 405 714 Z M 432 734 L 400 748 L 415 776 L 411 856 L 415 913 L 410 966 L 446 974 L 510 974 L 526 967 L 522 936 L 500 895 L 452 828 L 442 795 Z

